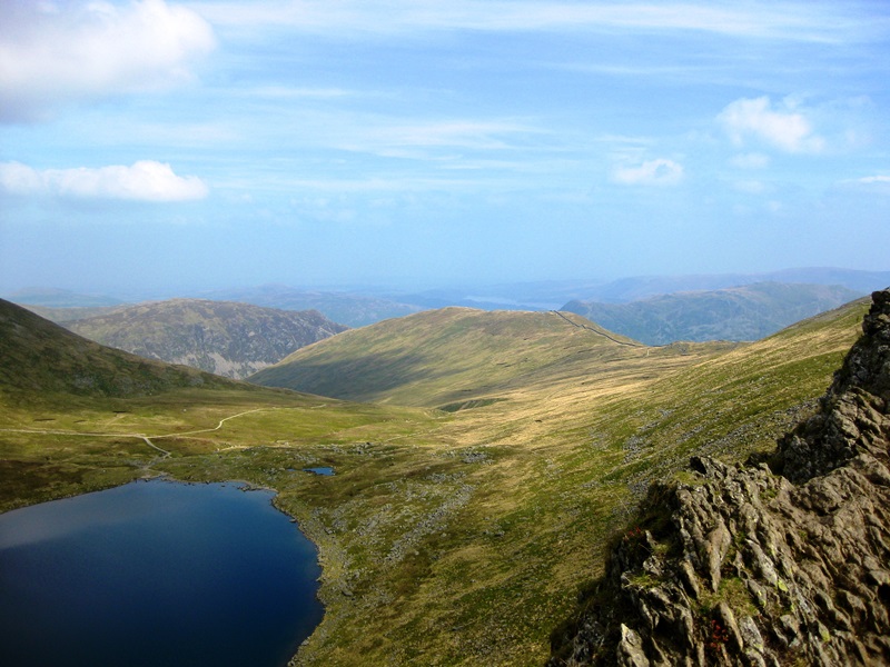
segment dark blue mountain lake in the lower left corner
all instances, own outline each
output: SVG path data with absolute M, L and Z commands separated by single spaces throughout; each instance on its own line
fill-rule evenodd
M 320 570 L 270 498 L 155 480 L 0 515 L 0 665 L 286 665 Z

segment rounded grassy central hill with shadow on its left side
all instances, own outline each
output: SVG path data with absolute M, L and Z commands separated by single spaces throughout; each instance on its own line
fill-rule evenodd
M 349 400 L 459 407 L 451 404 L 625 352 L 646 354 L 572 315 L 444 308 L 347 331 L 249 380 Z

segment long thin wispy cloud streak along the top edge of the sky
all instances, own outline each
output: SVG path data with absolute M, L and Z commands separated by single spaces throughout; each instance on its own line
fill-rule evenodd
M 856 38 L 868 26 L 841 8 L 755 3 L 750 8 L 680 2 L 540 2 L 534 0 L 273 0 L 194 3 L 211 22 L 250 30 L 289 26 L 330 34 L 417 30 L 694 30 L 752 38 L 834 42 Z

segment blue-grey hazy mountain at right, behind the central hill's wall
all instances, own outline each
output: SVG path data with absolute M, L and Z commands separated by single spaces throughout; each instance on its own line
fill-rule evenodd
M 630 303 L 570 301 L 563 310 L 647 345 L 758 340 L 859 296 L 844 287 L 760 282 L 662 295 Z

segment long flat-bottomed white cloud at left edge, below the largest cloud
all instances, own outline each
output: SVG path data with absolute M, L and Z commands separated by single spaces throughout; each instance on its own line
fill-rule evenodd
M 19 162 L 0 162 L 0 190 L 21 196 L 135 201 L 187 201 L 207 197 L 195 176 L 177 176 L 169 165 L 140 160 L 130 167 L 37 170 Z

